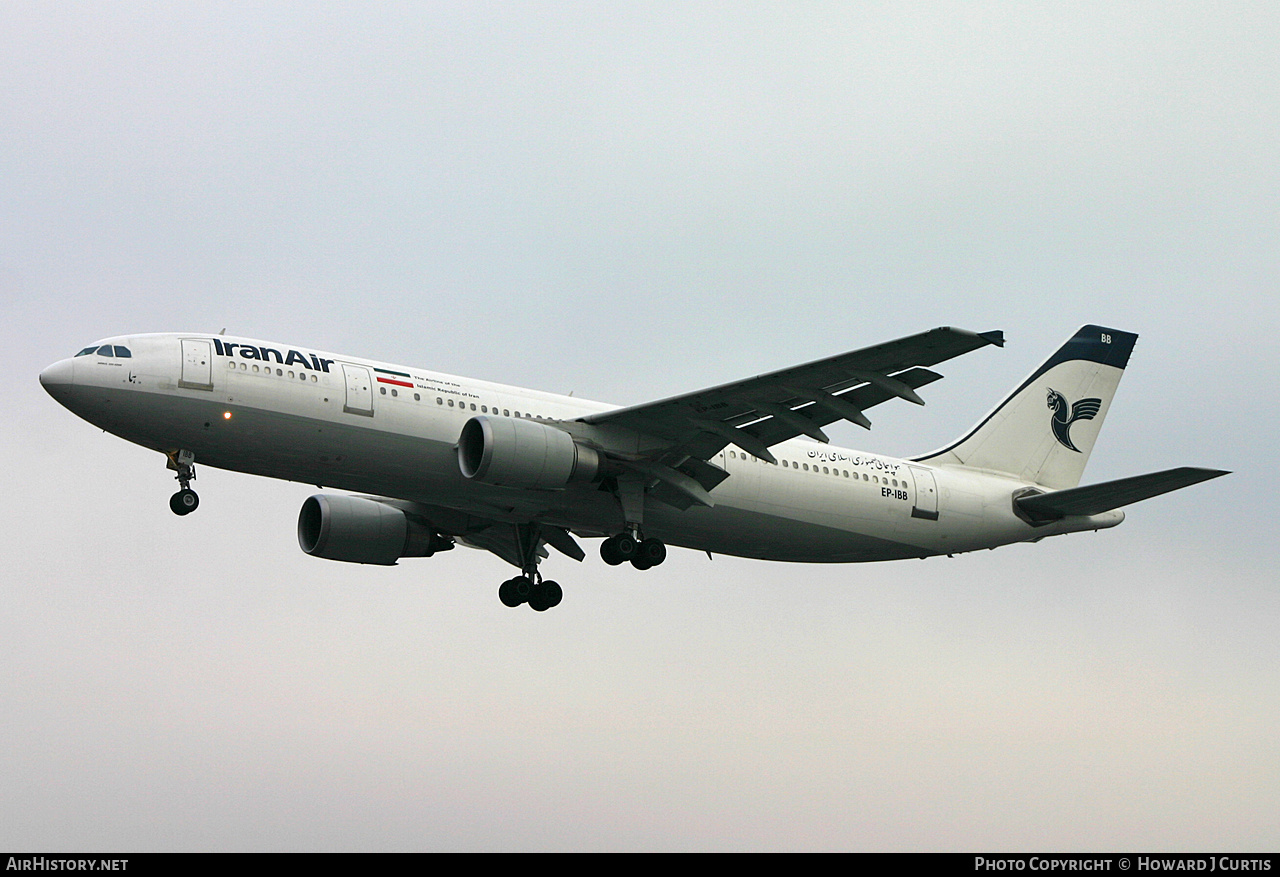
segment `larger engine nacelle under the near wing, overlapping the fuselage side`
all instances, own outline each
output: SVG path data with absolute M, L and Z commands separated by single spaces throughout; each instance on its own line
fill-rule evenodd
M 520 417 L 472 417 L 458 437 L 466 478 L 509 488 L 559 489 L 595 480 L 600 455 L 563 429 Z

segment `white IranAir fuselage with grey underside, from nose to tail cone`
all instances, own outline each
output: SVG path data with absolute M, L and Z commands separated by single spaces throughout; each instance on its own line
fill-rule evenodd
M 580 535 L 623 526 L 594 484 L 494 487 L 460 471 L 456 446 L 477 415 L 572 421 L 614 406 L 310 348 L 197 334 L 129 335 L 131 356 L 63 360 L 41 382 L 90 422 L 197 463 L 390 497 L 439 516 L 529 521 Z M 855 562 L 992 548 L 1114 526 L 1123 512 L 1033 526 L 1014 513 L 1033 487 L 963 466 L 927 466 L 794 439 L 778 465 L 733 446 L 710 460 L 730 478 L 714 507 L 650 501 L 646 535 L 672 545 L 778 561 Z

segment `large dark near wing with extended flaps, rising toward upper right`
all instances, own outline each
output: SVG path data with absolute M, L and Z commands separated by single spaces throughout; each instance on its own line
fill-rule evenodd
M 771 446 L 797 435 L 827 442 L 822 428 L 837 420 L 849 420 L 870 429 L 870 420 L 863 414 L 867 408 L 891 398 L 924 405 L 915 393 L 916 388 L 942 378 L 927 366 L 987 344 L 1004 347 L 1004 334 L 933 329 L 791 369 L 660 402 L 590 415 L 581 420 L 596 426 L 621 426 L 658 439 L 660 451 L 649 455 L 648 460 L 648 463 L 667 470 L 659 472 L 658 478 L 680 467 L 709 490 L 714 484 L 708 485 L 707 481 L 714 480 L 718 484 L 723 475 L 716 479 L 707 472 L 705 461 L 724 446 L 736 444 L 762 460 L 777 462 L 769 453 Z M 695 462 L 690 466 L 687 461 Z M 698 466 L 696 461 L 703 461 L 704 466 Z M 662 480 L 669 483 L 669 479 Z

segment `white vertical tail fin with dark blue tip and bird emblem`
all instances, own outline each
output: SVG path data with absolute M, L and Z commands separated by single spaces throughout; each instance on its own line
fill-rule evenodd
M 916 461 L 1074 488 L 1135 341 L 1132 332 L 1083 326 L 964 438 Z

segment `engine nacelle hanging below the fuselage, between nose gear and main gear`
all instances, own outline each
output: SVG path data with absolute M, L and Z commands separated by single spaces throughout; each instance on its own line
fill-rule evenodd
M 392 566 L 453 543 L 399 508 L 362 497 L 317 493 L 298 512 L 298 545 L 312 557 Z

